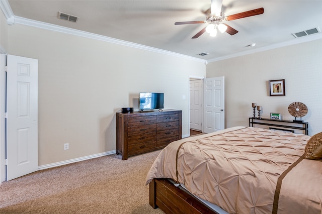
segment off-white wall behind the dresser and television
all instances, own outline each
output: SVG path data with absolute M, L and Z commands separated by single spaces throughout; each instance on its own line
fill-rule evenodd
M 137 109 L 140 91 L 164 92 L 189 135 L 189 75 L 205 76 L 204 63 L 19 24 L 8 32 L 9 54 L 39 62 L 39 166 L 114 151 L 116 112 Z

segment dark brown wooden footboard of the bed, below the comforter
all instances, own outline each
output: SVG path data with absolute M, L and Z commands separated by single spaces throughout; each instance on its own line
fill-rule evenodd
M 207 205 L 198 200 L 182 187 L 176 187 L 168 179 L 153 179 L 149 186 L 149 203 L 155 209 L 159 207 L 168 213 L 213 213 Z

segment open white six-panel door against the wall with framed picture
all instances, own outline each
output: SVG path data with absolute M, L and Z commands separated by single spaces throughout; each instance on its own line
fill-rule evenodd
M 211 133 L 225 127 L 224 77 L 204 81 L 204 132 Z

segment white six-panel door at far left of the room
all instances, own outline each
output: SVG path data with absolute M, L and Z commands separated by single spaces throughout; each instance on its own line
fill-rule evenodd
M 38 60 L 7 56 L 7 180 L 38 170 Z

